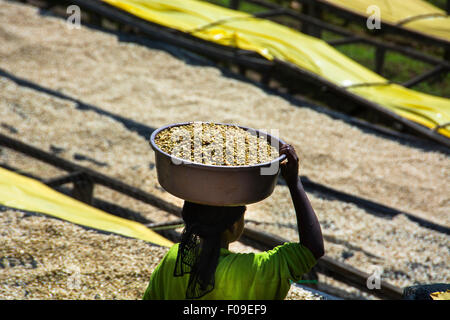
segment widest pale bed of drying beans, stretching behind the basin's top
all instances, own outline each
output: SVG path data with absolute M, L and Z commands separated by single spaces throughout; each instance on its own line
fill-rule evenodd
M 312 180 L 450 226 L 446 155 L 363 133 L 216 68 L 0 3 L 0 68 L 17 77 L 154 128 L 213 121 L 278 129 Z

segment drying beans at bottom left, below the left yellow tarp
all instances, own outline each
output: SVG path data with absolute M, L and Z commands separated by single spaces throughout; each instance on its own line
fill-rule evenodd
M 167 248 L 69 222 L 0 210 L 0 297 L 141 299 Z M 318 300 L 292 286 L 286 299 Z

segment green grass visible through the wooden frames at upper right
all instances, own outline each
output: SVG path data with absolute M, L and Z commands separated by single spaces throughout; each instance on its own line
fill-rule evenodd
M 289 3 L 292 2 L 289 0 L 266 0 L 266 1 L 274 2 L 284 6 L 288 6 Z M 446 1 L 447 0 L 429 0 L 429 2 L 431 2 L 433 5 L 440 7 L 442 9 L 445 9 Z M 218 4 L 224 7 L 229 7 L 230 4 L 230 0 L 208 0 L 208 2 Z M 255 12 L 262 12 L 265 9 L 257 5 L 249 4 L 245 1 L 241 1 L 239 10 L 249 13 L 255 13 Z M 345 21 L 344 19 L 334 16 L 333 14 L 327 12 L 322 14 L 322 19 L 334 25 L 345 26 L 347 30 L 355 34 L 366 33 L 366 29 L 364 26 L 357 23 Z M 295 23 L 293 23 L 292 19 L 277 18 L 274 20 L 279 23 L 295 27 Z M 322 33 L 323 40 L 331 40 L 337 38 L 339 38 L 339 36 L 336 36 L 333 33 L 327 31 L 323 31 Z M 378 36 L 378 39 L 385 41 L 393 41 L 396 42 L 397 44 L 412 47 L 424 53 L 435 55 L 439 58 L 442 58 L 443 56 L 443 52 L 440 48 L 429 47 L 422 43 L 417 43 L 412 39 L 405 39 L 404 37 L 396 37 L 395 35 L 381 35 Z M 363 66 L 371 70 L 375 69 L 374 63 L 375 50 L 373 47 L 365 44 L 348 44 L 337 46 L 336 49 L 345 54 L 346 56 L 350 57 L 351 59 L 362 64 Z M 419 60 L 411 59 L 409 57 L 403 56 L 395 52 L 387 52 L 385 56 L 384 67 L 382 70 L 382 76 L 391 81 L 403 83 L 409 79 L 412 79 L 415 76 L 422 74 L 423 72 L 430 70 L 431 68 L 432 68 L 431 65 L 423 63 Z M 441 74 L 440 77 L 422 82 L 414 86 L 413 89 L 436 96 L 450 98 L 450 75 L 448 73 Z

